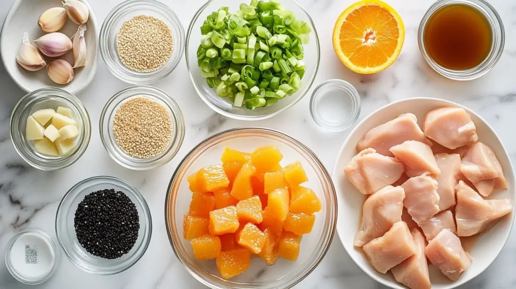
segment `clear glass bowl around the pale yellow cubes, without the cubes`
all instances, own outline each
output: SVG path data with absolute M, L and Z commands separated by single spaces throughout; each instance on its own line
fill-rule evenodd
M 58 106 L 72 110 L 72 118 L 77 122 L 79 135 L 75 140 L 77 146 L 73 151 L 61 157 L 40 154 L 34 148 L 33 141 L 27 141 L 25 130 L 27 117 L 40 109 Z M 14 148 L 28 164 L 42 171 L 54 171 L 65 168 L 77 161 L 86 151 L 90 142 L 91 123 L 86 108 L 73 94 L 59 88 L 42 88 L 26 94 L 12 110 L 10 134 Z

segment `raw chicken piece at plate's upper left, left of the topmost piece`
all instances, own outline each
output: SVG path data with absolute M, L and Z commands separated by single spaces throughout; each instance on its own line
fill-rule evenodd
M 389 149 L 408 140 L 420 141 L 431 145 L 425 134 L 417 125 L 417 118 L 412 113 L 401 114 L 394 120 L 369 130 L 358 142 L 357 150 L 372 147 L 379 154 L 392 157 Z

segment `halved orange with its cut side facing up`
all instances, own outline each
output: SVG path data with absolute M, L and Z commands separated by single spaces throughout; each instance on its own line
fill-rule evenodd
M 363 0 L 349 6 L 333 29 L 333 48 L 350 70 L 380 72 L 398 58 L 405 39 L 399 14 L 379 0 Z

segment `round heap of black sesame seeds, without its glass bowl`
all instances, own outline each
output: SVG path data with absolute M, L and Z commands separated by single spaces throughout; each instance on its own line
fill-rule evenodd
M 79 203 L 74 227 L 77 241 L 87 252 L 116 259 L 136 243 L 140 217 L 136 205 L 123 192 L 101 190 L 86 195 Z

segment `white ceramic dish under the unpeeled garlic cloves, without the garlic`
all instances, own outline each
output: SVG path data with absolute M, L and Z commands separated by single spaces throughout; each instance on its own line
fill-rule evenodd
M 4 27 L 0 32 L 0 53 L 7 73 L 12 80 L 26 92 L 31 92 L 44 87 L 57 87 L 76 94 L 84 90 L 93 80 L 96 72 L 98 56 L 98 26 L 95 15 L 86 0 L 80 0 L 88 6 L 89 18 L 86 22 L 86 66 L 74 70 L 75 77 L 68 84 L 57 84 L 49 78 L 46 67 L 39 71 L 26 71 L 16 62 L 16 56 L 23 42 L 23 33 L 27 32 L 30 40 L 36 40 L 46 33 L 38 26 L 38 18 L 46 9 L 62 7 L 61 0 L 15 0 L 5 18 Z M 65 26 L 59 30 L 68 37 L 72 37 L 77 31 L 78 25 L 68 18 Z M 47 63 L 52 58 L 43 56 Z M 56 59 L 65 59 L 73 65 L 73 53 L 70 50 L 67 54 Z

